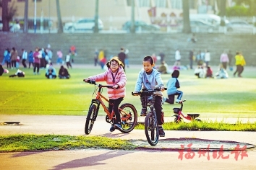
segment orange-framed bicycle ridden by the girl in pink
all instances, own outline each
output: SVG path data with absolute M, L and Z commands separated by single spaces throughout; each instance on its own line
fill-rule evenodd
M 85 81 L 85 80 L 84 80 Z M 85 81 L 86 82 L 86 81 Z M 104 109 L 104 112 L 106 112 L 106 122 L 114 124 L 115 113 L 114 111 L 109 112 L 108 107 L 106 107 L 106 104 L 103 102 L 109 102 L 109 100 L 103 96 L 102 91 L 103 88 L 111 88 L 113 89 L 113 86 L 104 86 L 101 84 L 96 84 L 95 81 L 88 80 L 89 84 L 95 85 L 95 90 L 93 94 L 95 94 L 95 99 L 92 99 L 92 102 L 89 107 L 88 115 L 86 117 L 85 122 L 85 134 L 90 134 L 90 132 L 93 129 L 94 122 L 96 121 L 96 118 L 98 116 L 98 110 L 102 106 Z M 119 107 L 120 117 L 121 117 L 121 133 L 129 133 L 137 124 L 137 109 L 134 105 L 129 103 L 121 104 Z

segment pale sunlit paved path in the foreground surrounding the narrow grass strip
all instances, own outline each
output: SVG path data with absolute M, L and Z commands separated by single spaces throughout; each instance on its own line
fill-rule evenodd
M 0 135 L 84 135 L 85 116 L 0 115 L 0 122 L 6 121 L 18 121 L 20 125 L 0 125 Z M 98 117 L 90 136 L 128 139 L 143 149 L 0 153 L 0 169 L 256 169 L 255 148 L 236 152 L 225 150 L 234 149 L 236 144 L 254 146 L 255 132 L 166 130 L 166 137 L 153 147 L 145 140 L 144 130 L 124 134 L 118 130 L 110 133 L 109 128 L 104 117 Z M 181 145 L 189 143 L 194 148 L 192 151 L 180 149 Z M 220 150 L 221 146 L 224 151 Z M 204 154 L 200 148 L 206 148 Z

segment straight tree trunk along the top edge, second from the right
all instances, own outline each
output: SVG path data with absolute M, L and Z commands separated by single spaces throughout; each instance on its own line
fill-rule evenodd
M 190 21 L 189 21 L 189 1 L 182 0 L 183 8 L 183 30 L 184 33 L 190 33 Z

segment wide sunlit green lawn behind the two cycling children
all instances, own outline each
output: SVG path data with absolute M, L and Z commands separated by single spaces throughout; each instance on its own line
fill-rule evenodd
M 59 66 L 56 68 L 59 71 Z M 99 67 L 74 66 L 69 70 L 71 79 L 46 79 L 44 70 L 38 76 L 33 75 L 31 68 L 22 69 L 25 78 L 9 78 L 15 70 L 9 71 L 0 76 L 1 115 L 86 115 L 95 88 L 82 79 L 102 72 Z M 131 92 L 139 71 L 140 66 L 127 68 L 127 97 L 124 98 L 138 112 L 140 98 L 133 97 Z M 256 68 L 245 67 L 243 78 L 234 78 L 229 71 L 230 79 L 197 79 L 193 70 L 180 72 L 180 90 L 184 92 L 183 99 L 187 99 L 184 112 L 199 113 L 202 117 L 256 117 Z M 165 84 L 170 77 L 162 75 Z M 163 94 L 166 96 L 166 91 Z M 179 104 L 163 105 L 166 116 L 173 115 L 173 107 Z M 100 115 L 105 115 L 102 109 Z

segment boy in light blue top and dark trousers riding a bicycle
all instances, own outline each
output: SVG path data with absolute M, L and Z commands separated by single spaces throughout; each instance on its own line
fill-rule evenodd
M 135 93 L 141 89 L 155 89 L 155 86 L 161 88 L 161 91 L 164 91 L 163 80 L 161 79 L 161 73 L 159 73 L 153 66 L 155 66 L 154 60 L 151 56 L 146 56 L 143 59 L 143 68 L 144 70 L 140 71 L 137 78 Z M 161 121 L 162 117 L 162 92 L 155 92 L 155 112 L 158 120 L 159 135 L 161 137 L 165 136 L 165 133 L 162 128 L 163 122 Z M 147 106 L 142 103 L 142 110 L 140 116 L 147 115 Z

